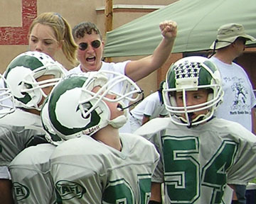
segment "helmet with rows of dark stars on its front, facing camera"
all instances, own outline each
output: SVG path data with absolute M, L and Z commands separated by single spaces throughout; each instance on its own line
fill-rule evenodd
M 208 100 L 195 106 L 187 106 L 186 91 L 209 89 Z M 182 92 L 183 106 L 176 103 L 176 92 Z M 213 113 L 223 99 L 221 77 L 218 68 L 206 57 L 184 57 L 171 65 L 166 74 L 163 89 L 164 105 L 171 114 L 171 120 L 178 125 L 198 125 L 213 117 Z M 191 115 L 196 111 L 207 110 L 193 120 Z M 183 118 L 181 115 L 185 115 Z M 177 120 L 178 119 L 178 120 Z

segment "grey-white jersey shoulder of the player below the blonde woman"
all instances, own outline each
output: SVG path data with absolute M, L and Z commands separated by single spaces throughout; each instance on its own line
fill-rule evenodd
M 35 135 L 43 135 L 31 127 L 42 128 L 40 116 L 21 109 L 0 119 L 0 166 L 7 166 Z

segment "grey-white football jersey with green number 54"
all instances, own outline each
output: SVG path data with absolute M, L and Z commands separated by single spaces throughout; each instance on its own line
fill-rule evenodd
M 213 118 L 187 128 L 156 118 L 135 134 L 160 153 L 152 181 L 164 182 L 166 204 L 224 203 L 226 183 L 246 185 L 256 177 L 256 136 L 238 123 Z

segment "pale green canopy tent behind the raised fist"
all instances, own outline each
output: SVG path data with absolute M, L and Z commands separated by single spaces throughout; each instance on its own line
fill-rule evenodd
M 162 38 L 159 23 L 165 20 L 178 23 L 173 52 L 208 50 L 225 23 L 241 23 L 256 38 L 256 1 L 176 1 L 108 32 L 104 57 L 151 55 Z

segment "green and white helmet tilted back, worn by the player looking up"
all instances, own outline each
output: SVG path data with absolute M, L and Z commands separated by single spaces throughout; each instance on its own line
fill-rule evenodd
M 112 91 L 120 83 L 122 91 Z M 100 86 L 100 90 L 95 93 L 92 89 L 96 86 Z M 115 97 L 108 97 L 109 94 Z M 50 125 L 63 140 L 92 135 L 107 125 L 121 128 L 127 122 L 128 113 L 123 101 L 135 103 L 141 95 L 139 86 L 124 74 L 110 71 L 70 74 L 49 96 Z M 110 108 L 105 101 L 117 103 L 124 115 L 110 120 Z

